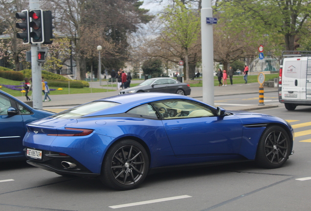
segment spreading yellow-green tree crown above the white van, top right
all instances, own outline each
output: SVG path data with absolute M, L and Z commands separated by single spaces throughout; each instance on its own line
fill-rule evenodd
M 306 30 L 311 14 L 311 0 L 226 0 L 218 11 L 239 31 L 266 36 L 270 42 L 295 50 L 295 38 Z M 280 36 L 281 35 L 281 36 Z M 283 41 L 282 41 L 283 40 Z

